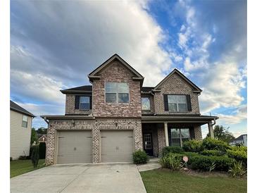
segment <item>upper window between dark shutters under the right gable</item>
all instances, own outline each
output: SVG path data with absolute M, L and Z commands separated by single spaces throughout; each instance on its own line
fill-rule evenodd
M 168 95 L 168 109 L 170 112 L 186 112 L 186 95 Z

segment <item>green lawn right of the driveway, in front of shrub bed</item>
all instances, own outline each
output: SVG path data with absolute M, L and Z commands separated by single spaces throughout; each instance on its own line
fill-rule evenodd
M 247 181 L 218 175 L 189 175 L 169 170 L 140 173 L 146 192 L 247 192 Z

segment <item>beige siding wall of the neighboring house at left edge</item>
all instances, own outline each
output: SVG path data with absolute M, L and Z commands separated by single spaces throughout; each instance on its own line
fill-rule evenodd
M 10 111 L 10 157 L 29 156 L 32 117 L 27 116 L 27 127 L 22 127 L 23 114 Z

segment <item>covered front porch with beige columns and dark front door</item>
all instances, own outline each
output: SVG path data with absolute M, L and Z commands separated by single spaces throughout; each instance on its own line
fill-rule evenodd
M 215 116 L 143 116 L 142 136 L 144 151 L 158 157 L 163 147 L 180 146 L 189 139 L 201 140 L 201 125 L 208 124 L 213 135 Z

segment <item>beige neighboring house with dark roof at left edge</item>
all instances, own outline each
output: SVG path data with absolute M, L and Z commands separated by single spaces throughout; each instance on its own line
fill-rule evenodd
M 10 157 L 30 155 L 32 118 L 35 116 L 10 100 Z

